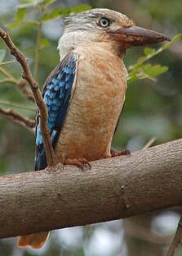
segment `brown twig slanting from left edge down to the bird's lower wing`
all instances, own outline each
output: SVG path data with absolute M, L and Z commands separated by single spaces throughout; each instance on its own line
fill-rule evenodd
M 26 130 L 29 130 L 34 135 L 35 121 L 21 116 L 18 112 L 12 110 L 11 108 L 4 109 L 0 107 L 0 115 L 7 117 L 9 120 L 15 122 L 19 126 L 24 127 Z

